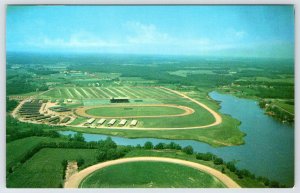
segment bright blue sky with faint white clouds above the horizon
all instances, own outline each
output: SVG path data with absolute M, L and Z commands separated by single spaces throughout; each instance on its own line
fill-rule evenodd
M 8 6 L 7 51 L 294 56 L 293 6 Z

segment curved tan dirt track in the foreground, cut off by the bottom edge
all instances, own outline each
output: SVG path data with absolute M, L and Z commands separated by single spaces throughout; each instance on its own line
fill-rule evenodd
M 219 172 L 216 169 L 213 169 L 211 167 L 208 167 L 208 166 L 205 166 L 205 165 L 202 165 L 199 163 L 195 163 L 195 162 L 174 159 L 174 158 L 164 158 L 164 157 L 123 158 L 123 159 L 117 159 L 117 160 L 113 160 L 113 161 L 99 163 L 99 164 L 90 166 L 90 167 L 70 176 L 69 180 L 67 180 L 65 182 L 64 187 L 65 188 L 78 188 L 80 185 L 80 182 L 85 177 L 87 177 L 89 174 L 93 173 L 96 170 L 99 170 L 99 169 L 102 169 L 102 168 L 105 168 L 108 166 L 116 165 L 116 164 L 127 163 L 127 162 L 140 162 L 140 161 L 168 162 L 168 163 L 175 163 L 175 164 L 192 167 L 192 168 L 206 172 L 206 173 L 218 178 L 228 188 L 240 188 L 240 186 L 235 181 L 233 181 L 227 175 Z M 147 174 L 145 174 L 145 175 L 147 175 Z

